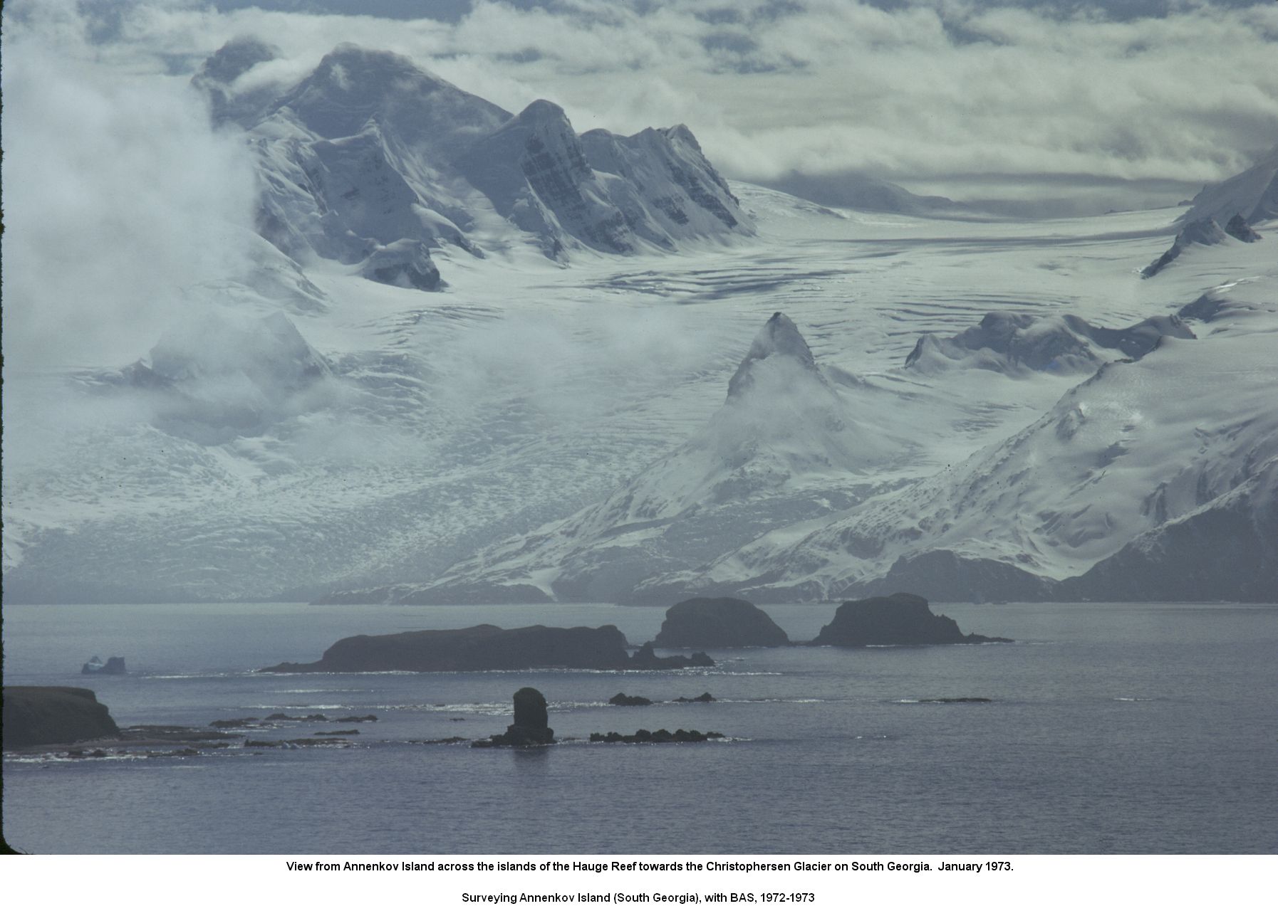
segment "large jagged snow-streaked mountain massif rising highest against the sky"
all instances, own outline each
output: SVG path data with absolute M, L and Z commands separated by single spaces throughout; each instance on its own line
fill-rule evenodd
M 431 250 L 445 246 L 482 256 L 530 240 L 561 259 L 753 232 L 685 126 L 578 135 L 550 101 L 511 116 L 406 57 L 354 45 L 296 84 L 263 84 L 256 73 L 273 56 L 231 42 L 194 84 L 216 117 L 248 131 L 258 230 L 295 259 L 433 290 Z

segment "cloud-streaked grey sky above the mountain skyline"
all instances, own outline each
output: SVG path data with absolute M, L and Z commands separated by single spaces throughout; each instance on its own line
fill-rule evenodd
M 1274 0 L 19 0 L 5 18 L 6 40 L 79 29 L 96 65 L 175 80 L 240 34 L 299 75 L 354 41 L 512 111 L 553 100 L 579 131 L 686 123 L 726 175 L 814 191 L 865 172 L 1166 204 L 1278 144 Z

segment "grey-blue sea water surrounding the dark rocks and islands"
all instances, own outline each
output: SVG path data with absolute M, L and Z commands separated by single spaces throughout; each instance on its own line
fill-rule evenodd
M 4 609 L 6 684 L 86 685 L 123 725 L 377 713 L 349 749 L 6 755 L 4 833 L 36 852 L 1275 852 L 1278 607 L 938 605 L 1016 644 L 712 651 L 661 674 L 259 675 L 355 633 L 601 625 L 658 609 L 115 605 Z M 810 638 L 833 606 L 766 607 Z M 81 676 L 91 655 L 128 676 Z M 481 738 L 534 685 L 564 738 L 717 730 L 684 745 Z M 617 708 L 711 692 L 711 704 Z M 990 703 L 921 703 L 985 697 Z M 458 720 L 461 718 L 461 720 Z M 296 738 L 314 727 L 257 731 Z M 321 727 L 322 729 L 322 727 Z

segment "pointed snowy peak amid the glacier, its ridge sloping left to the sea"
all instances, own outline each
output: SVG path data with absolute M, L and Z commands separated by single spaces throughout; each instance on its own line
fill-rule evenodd
M 658 577 L 694 568 L 771 526 L 810 519 L 875 490 L 911 443 L 859 421 L 799 329 L 773 314 L 689 440 L 604 500 L 486 547 L 427 586 L 330 601 L 648 600 Z

